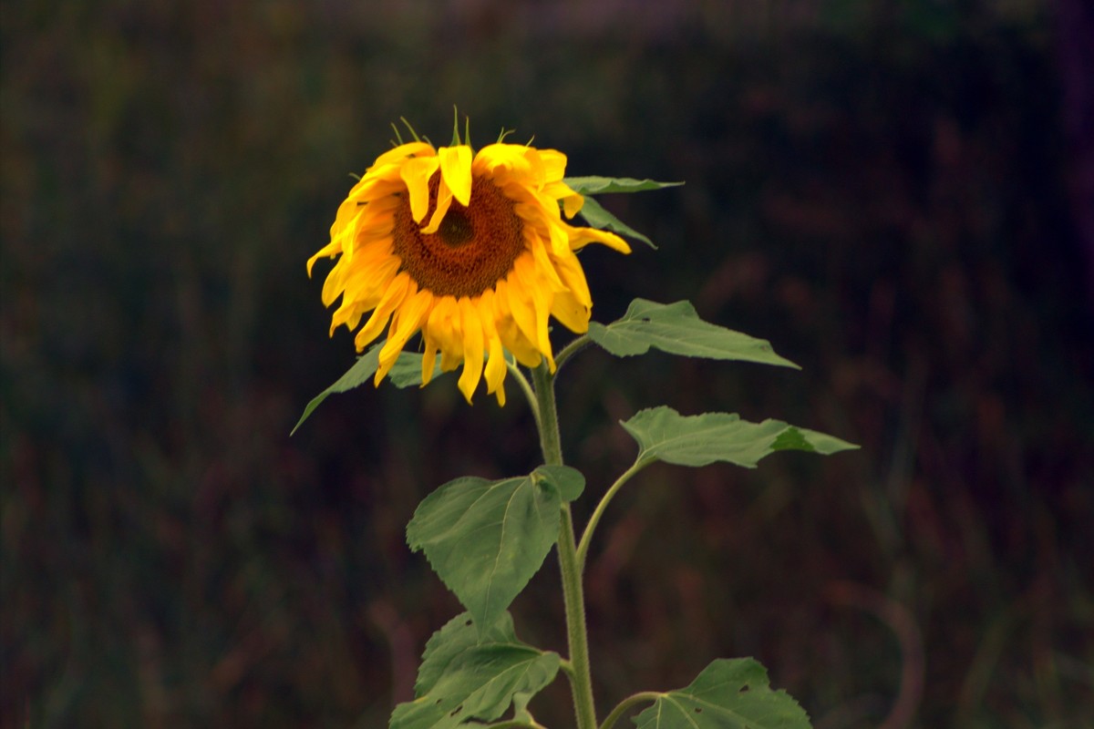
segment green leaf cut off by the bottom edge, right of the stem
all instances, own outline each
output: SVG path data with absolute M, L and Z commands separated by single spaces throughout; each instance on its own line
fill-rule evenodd
M 684 689 L 662 694 L 635 717 L 639 729 L 808 729 L 810 717 L 785 691 L 771 691 L 752 658 L 720 659 Z

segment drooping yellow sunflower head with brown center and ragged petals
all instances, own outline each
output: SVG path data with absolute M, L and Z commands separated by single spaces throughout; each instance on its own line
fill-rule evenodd
M 323 303 L 341 296 L 330 333 L 357 329 L 358 351 L 387 327 L 375 384 L 421 331 L 422 384 L 463 363 L 459 389 L 470 402 L 486 374 L 487 392 L 505 402 L 504 352 L 554 371 L 547 334 L 554 316 L 574 332 L 589 328 L 592 297 L 574 251 L 619 236 L 567 219 L 583 198 L 562 181 L 566 155 L 497 143 L 473 155 L 467 144 L 434 149 L 411 142 L 369 167 L 338 208 L 330 243 L 307 261 L 340 256 L 323 285 Z M 388 326 L 391 320 L 391 326 Z

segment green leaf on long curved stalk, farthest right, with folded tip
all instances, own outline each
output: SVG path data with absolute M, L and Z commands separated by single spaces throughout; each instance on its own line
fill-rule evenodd
M 777 420 L 749 423 L 736 413 L 680 415 L 667 407 L 638 412 L 622 423 L 638 442 L 639 461 L 661 460 L 678 466 L 707 466 L 726 461 L 755 468 L 777 450 L 805 450 L 823 455 L 858 446 Z

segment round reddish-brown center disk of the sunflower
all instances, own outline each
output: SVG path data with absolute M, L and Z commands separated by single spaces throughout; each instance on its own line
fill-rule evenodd
M 430 180 L 429 221 L 437 208 L 440 175 Z M 437 233 L 423 234 L 421 224 L 410 214 L 405 198 L 395 210 L 392 232 L 394 252 L 403 261 L 419 289 L 439 296 L 477 296 L 492 289 L 513 268 L 524 250 L 521 219 L 513 212 L 513 201 L 484 177 L 472 180 L 470 204 L 456 200 L 441 221 Z

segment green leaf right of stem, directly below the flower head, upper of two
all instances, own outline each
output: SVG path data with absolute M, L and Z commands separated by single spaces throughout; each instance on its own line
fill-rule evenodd
M 590 322 L 589 338 L 616 356 L 645 354 L 652 346 L 691 357 L 800 368 L 776 354 L 766 340 L 703 321 L 688 302 L 657 304 L 636 298 L 621 319 L 606 326 Z

